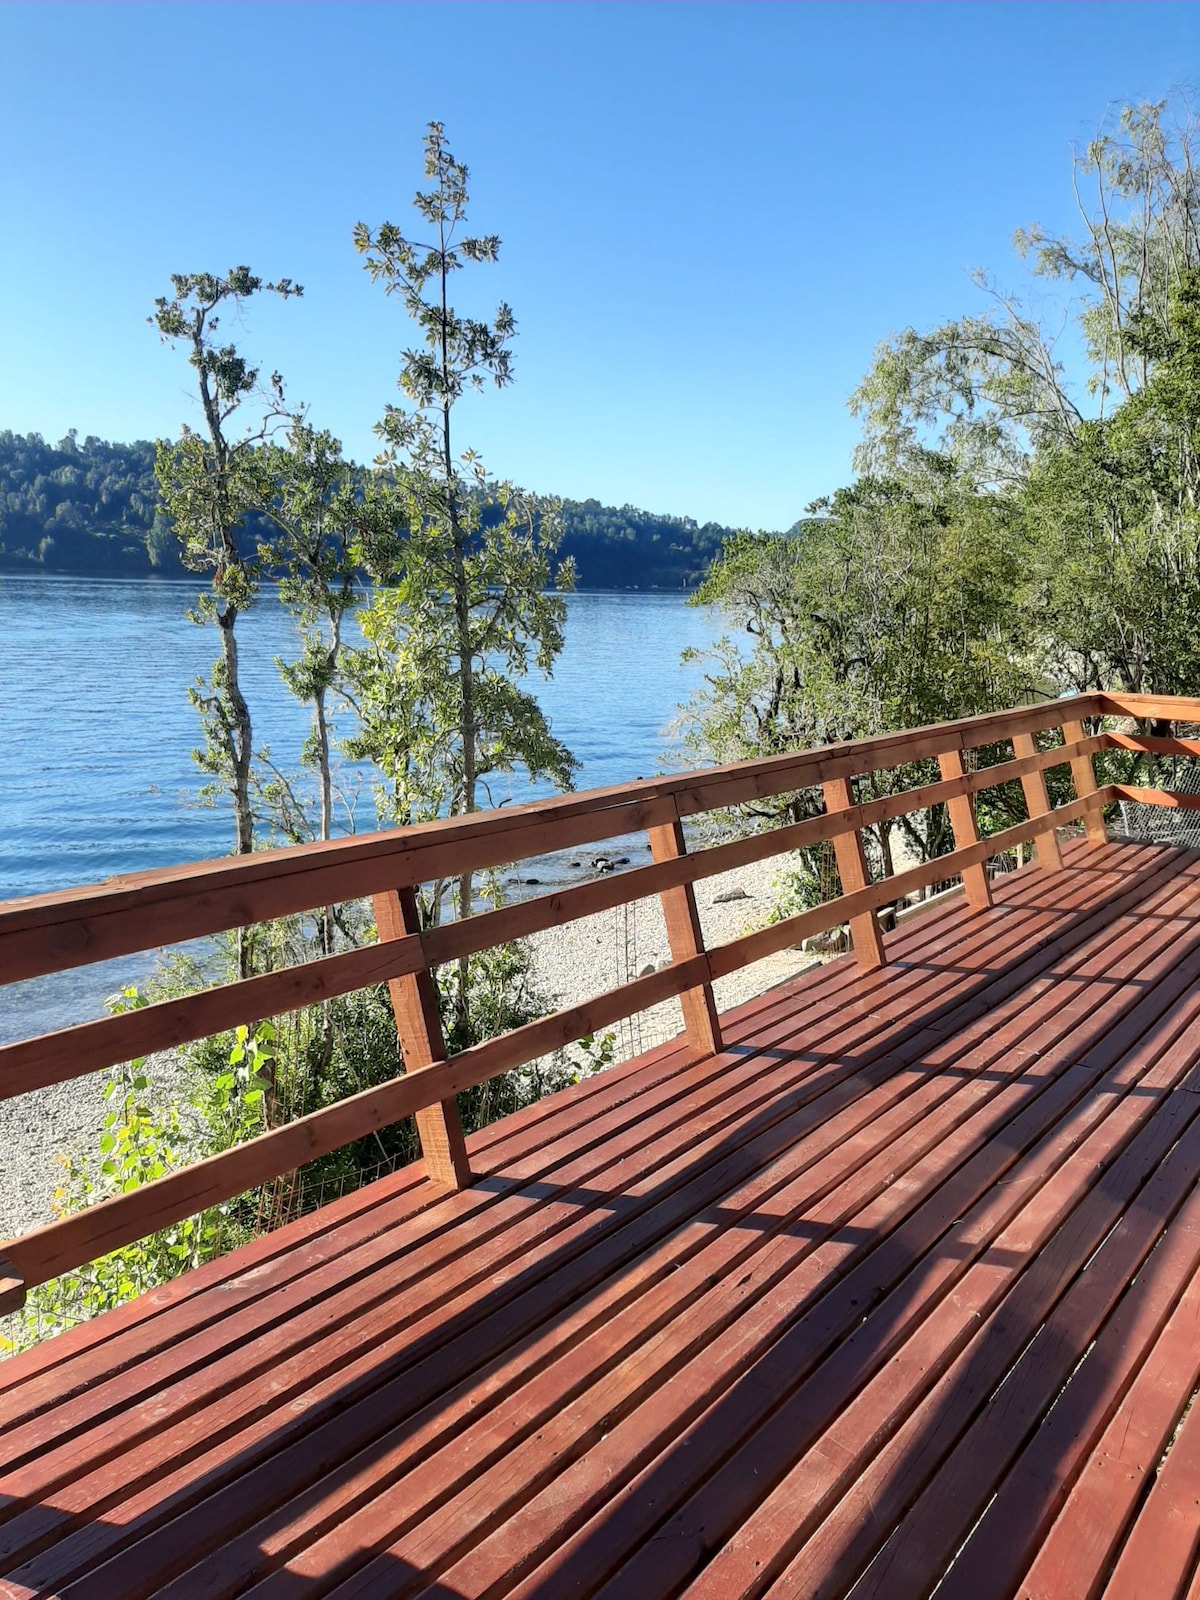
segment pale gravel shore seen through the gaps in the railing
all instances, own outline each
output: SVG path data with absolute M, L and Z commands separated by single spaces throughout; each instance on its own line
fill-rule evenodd
M 707 944 L 723 944 L 762 926 L 774 902 L 779 864 L 758 862 L 696 885 L 696 899 Z M 533 941 L 534 979 L 554 1005 L 573 1005 L 637 978 L 669 960 L 662 907 L 658 899 L 637 901 L 611 912 L 538 934 Z M 717 982 L 722 1010 L 749 1000 L 782 982 L 811 957 L 797 950 L 757 962 Z M 614 1059 L 672 1038 L 682 1029 L 678 1000 L 667 1000 L 642 1016 L 613 1026 Z M 187 1099 L 187 1074 L 170 1051 L 150 1056 L 146 1072 L 154 1099 L 166 1106 Z M 104 1074 L 0 1101 L 0 1149 L 5 1178 L 0 1184 L 0 1238 L 10 1238 L 53 1216 L 54 1192 L 62 1181 L 61 1157 L 94 1150 L 107 1109 Z

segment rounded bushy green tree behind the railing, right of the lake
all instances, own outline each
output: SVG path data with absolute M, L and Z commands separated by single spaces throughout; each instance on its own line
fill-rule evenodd
M 686 714 L 690 747 L 734 762 L 1011 704 L 1029 690 L 1014 602 L 1022 558 L 1014 507 L 963 493 L 938 456 L 920 478 L 861 478 L 818 501 L 794 534 L 739 534 L 694 597 L 742 638 L 726 634 L 709 654 Z M 864 798 L 931 776 L 877 773 Z M 779 822 L 821 808 L 819 790 L 800 790 L 747 810 Z M 888 875 L 898 827 L 918 856 L 947 848 L 941 810 L 880 824 Z M 810 854 L 808 870 L 827 894 L 826 858 Z

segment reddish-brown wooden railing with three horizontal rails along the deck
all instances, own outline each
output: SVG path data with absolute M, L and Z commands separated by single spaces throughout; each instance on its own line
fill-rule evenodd
M 1102 843 L 1102 808 L 1114 800 L 1200 805 L 1160 790 L 1098 786 L 1093 757 L 1106 749 L 1200 755 L 1200 742 L 1162 734 L 1085 733 L 1085 720 L 1106 715 L 1200 722 L 1200 701 L 1075 696 L 445 822 L 110 878 L 0 906 L 0 974 L 6 984 L 360 898 L 371 901 L 379 934 L 376 944 L 362 949 L 0 1046 L 0 1096 L 62 1083 L 382 981 L 390 987 L 405 1062 L 402 1077 L 0 1245 L 0 1310 L 18 1307 L 35 1283 L 406 1117 L 418 1120 L 430 1179 L 466 1184 L 470 1170 L 454 1107 L 461 1090 L 670 997 L 682 1002 L 691 1051 L 718 1051 L 720 1019 L 712 995 L 717 978 L 843 923 L 850 925 L 858 962 L 875 966 L 886 960 L 877 922 L 883 906 L 962 875 L 970 904 L 986 907 L 986 862 L 1014 845 L 1035 842 L 1040 864 L 1054 870 L 1061 866 L 1054 830 L 1082 822 L 1088 838 Z M 1035 736 L 1053 730 L 1061 730 L 1062 744 L 1038 750 Z M 1011 760 L 966 770 L 965 752 L 1003 741 L 1011 741 Z M 856 802 L 854 779 L 933 758 L 941 768 L 939 782 Z M 1070 766 L 1075 798 L 1051 810 L 1045 771 L 1061 765 Z M 981 840 L 973 797 L 1011 779 L 1022 784 L 1029 819 Z M 824 795 L 821 816 L 686 850 L 686 818 L 813 787 Z M 957 848 L 870 882 L 862 829 L 938 803 L 949 808 Z M 418 926 L 414 891 L 421 883 L 638 830 L 650 838 L 648 866 L 462 922 L 424 931 Z M 821 840 L 830 840 L 835 850 L 843 886 L 837 899 L 706 949 L 693 890 L 698 880 Z M 662 901 L 670 965 L 446 1054 L 430 976 L 435 966 L 653 894 Z

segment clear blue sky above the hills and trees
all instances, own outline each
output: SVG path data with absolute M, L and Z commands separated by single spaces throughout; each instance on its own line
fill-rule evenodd
M 1200 77 L 1187 3 L 0 3 L 0 427 L 174 434 L 173 270 L 306 286 L 248 354 L 360 459 L 400 309 L 350 246 L 410 224 L 446 125 L 517 382 L 461 438 L 531 488 L 786 526 L 851 475 L 874 346 L 1021 278 L 1070 142 Z

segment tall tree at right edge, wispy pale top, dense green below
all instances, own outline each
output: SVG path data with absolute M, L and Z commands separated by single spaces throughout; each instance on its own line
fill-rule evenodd
M 930 443 L 1026 517 L 1027 634 L 1048 686 L 1200 686 L 1200 186 L 1195 125 L 1126 107 L 1075 158 L 1078 237 L 1021 230 L 1042 277 L 1082 293 L 1086 384 L 1050 326 L 995 294 L 984 317 L 877 352 L 854 395 L 859 464 L 909 470 Z M 982 277 L 979 282 L 984 282 Z M 995 291 L 994 291 L 995 293 Z

